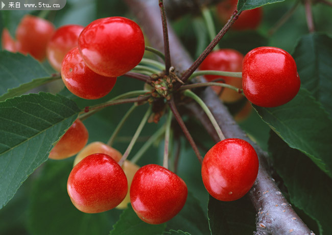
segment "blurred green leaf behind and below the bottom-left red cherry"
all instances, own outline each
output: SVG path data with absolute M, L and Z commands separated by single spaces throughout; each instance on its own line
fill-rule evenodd
M 77 210 L 67 193 L 73 161 L 50 160 L 42 166 L 30 195 L 28 228 L 35 235 L 107 234 L 120 216 L 114 209 L 98 214 Z

